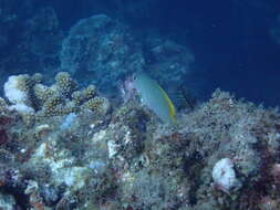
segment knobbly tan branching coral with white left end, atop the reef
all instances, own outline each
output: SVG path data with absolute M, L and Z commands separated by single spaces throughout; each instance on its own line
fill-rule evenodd
M 77 91 L 77 83 L 66 72 L 58 73 L 52 86 L 42 81 L 41 74 L 10 76 L 4 93 L 12 105 L 7 106 L 1 99 L 0 111 L 15 109 L 31 124 L 32 118 L 63 116 L 84 108 L 104 115 L 110 108 L 108 101 L 97 96 L 94 85 Z

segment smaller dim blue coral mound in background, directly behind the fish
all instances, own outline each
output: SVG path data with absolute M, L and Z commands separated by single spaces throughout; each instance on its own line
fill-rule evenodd
M 196 76 L 201 70 L 195 70 L 193 52 L 173 40 L 163 39 L 154 33 L 147 35 L 144 46 L 145 71 L 169 93 L 176 107 L 185 108 L 186 91 L 191 90 L 191 95 L 197 96 L 203 88 L 201 84 L 205 83 L 201 77 Z

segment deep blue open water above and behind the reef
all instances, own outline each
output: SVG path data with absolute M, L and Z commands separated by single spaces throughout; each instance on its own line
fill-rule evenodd
M 10 74 L 38 72 L 42 65 L 40 59 L 32 55 L 22 59 L 21 53 L 15 52 L 28 22 L 45 7 L 54 9 L 64 35 L 79 20 L 105 13 L 128 24 L 137 33 L 156 31 L 163 38 L 190 49 L 195 56 L 194 70 L 199 70 L 191 77 L 191 83 L 204 83 L 198 97 L 207 98 L 215 88 L 220 87 L 266 106 L 280 103 L 280 44 L 270 34 L 277 24 L 280 28 L 277 23 L 280 7 L 276 0 L 2 0 L 2 18 L 6 14 L 18 17 L 17 21 L 0 22 L 4 25 L 0 38 L 8 39 L 2 48 L 0 42 L 0 63 L 4 66 L 1 69 L 4 70 L 1 84 Z M 37 44 L 40 45 L 38 40 Z M 7 64 L 7 57 L 12 56 L 15 63 Z M 17 61 L 21 63 L 17 65 Z M 43 63 L 56 66 L 59 61 L 46 56 Z

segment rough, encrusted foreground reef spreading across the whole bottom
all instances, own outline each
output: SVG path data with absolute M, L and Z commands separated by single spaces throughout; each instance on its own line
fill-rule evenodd
M 33 123 L 27 123 L 21 111 L 10 108 L 18 101 L 1 99 L 2 206 L 279 208 L 277 109 L 217 90 L 209 102 L 179 113 L 178 126 L 169 127 L 136 101 L 108 112 L 107 98 L 93 85 L 80 90 L 65 72 L 51 86 L 38 74 L 15 78 L 31 81 L 19 83 L 31 84 L 28 88 L 7 86 L 20 87 L 28 97 L 20 103 L 28 102 L 34 113 Z

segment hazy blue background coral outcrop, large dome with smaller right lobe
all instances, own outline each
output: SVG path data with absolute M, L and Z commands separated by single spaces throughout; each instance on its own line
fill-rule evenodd
M 190 50 L 156 34 L 145 38 L 105 14 L 80 20 L 62 42 L 61 70 L 83 83 L 94 83 L 108 96 L 117 88 L 117 81 L 143 70 L 173 92 L 182 90 L 184 83 L 179 81 L 191 81 L 194 72 Z

